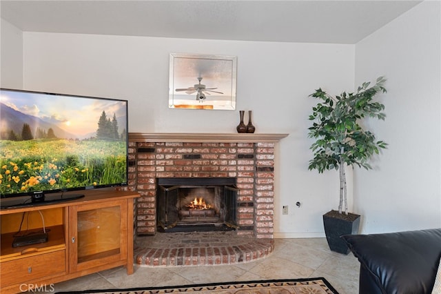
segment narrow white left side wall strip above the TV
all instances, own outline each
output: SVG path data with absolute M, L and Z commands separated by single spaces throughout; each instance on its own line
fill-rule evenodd
M 0 19 L 0 86 L 21 88 L 23 86 L 23 32 Z

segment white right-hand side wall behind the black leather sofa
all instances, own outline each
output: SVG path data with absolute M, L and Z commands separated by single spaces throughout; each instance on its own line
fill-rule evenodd
M 441 227 L 439 1 L 424 1 L 356 45 L 356 84 L 385 75 L 385 121 L 370 121 L 389 148 L 376 170 L 354 170 L 362 231 Z

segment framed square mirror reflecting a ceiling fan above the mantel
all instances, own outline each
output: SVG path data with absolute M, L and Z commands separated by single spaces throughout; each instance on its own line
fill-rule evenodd
M 170 54 L 169 108 L 236 110 L 236 56 Z

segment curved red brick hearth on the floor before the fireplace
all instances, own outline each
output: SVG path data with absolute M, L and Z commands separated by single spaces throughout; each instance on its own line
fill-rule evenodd
M 238 237 L 233 232 L 159 233 L 136 240 L 140 266 L 212 266 L 253 262 L 274 250 L 274 239 Z

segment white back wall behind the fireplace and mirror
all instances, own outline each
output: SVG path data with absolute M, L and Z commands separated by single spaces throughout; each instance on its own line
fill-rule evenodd
M 322 236 L 322 214 L 338 205 L 338 175 L 307 170 L 308 95 L 353 87 L 354 48 L 24 32 L 23 86 L 128 99 L 130 132 L 235 133 L 238 110 L 253 110 L 256 132 L 289 133 L 277 149 L 276 237 Z M 236 55 L 237 110 L 169 109 L 170 52 Z

